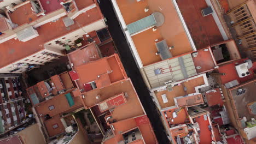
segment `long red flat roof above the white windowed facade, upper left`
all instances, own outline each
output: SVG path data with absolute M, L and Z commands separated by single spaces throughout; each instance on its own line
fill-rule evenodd
M 84 19 L 84 17 L 89 16 L 90 19 Z M 74 25 L 69 26 L 68 28 L 64 25 L 62 19 L 63 17 L 55 22 L 48 22 L 45 25 L 38 27 L 37 31 L 39 36 L 25 43 L 19 40 L 10 39 L 0 44 L 0 68 L 42 50 L 43 44 L 47 41 L 56 37 L 61 37 L 75 29 L 79 29 L 81 26 L 89 25 L 91 22 L 100 20 L 102 19 L 102 16 L 97 8 L 92 8 L 86 11 L 86 13 L 76 17 L 74 19 Z M 11 47 L 9 47 L 10 45 Z M 26 51 L 24 51 L 25 49 Z

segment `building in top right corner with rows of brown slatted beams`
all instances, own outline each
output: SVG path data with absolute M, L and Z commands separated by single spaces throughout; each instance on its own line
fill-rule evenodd
M 234 37 L 241 51 L 255 58 L 255 31 L 256 31 L 256 7 L 255 1 L 246 1 L 230 9 L 226 15 L 229 17 L 231 28 L 234 29 Z

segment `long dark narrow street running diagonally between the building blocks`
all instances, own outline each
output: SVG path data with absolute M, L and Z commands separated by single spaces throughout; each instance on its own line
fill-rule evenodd
M 112 3 L 110 0 L 100 1 L 100 8 L 102 14 L 107 19 L 106 23 L 108 25 L 108 29 L 112 35 L 115 46 L 117 46 L 121 61 L 124 65 L 127 75 L 132 80 L 132 83 L 137 91 L 145 111 L 147 112 L 148 118 L 152 123 L 158 142 L 161 144 L 170 143 L 165 133 L 165 128 L 161 122 L 158 110 L 149 94 L 146 84 L 143 81 L 142 75 L 137 68 L 129 44 L 126 41 L 124 33 L 119 25 L 119 21 L 115 16 Z

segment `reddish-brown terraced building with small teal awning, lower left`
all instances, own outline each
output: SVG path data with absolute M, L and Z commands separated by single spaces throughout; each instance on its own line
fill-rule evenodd
M 49 137 L 65 133 L 65 127 L 61 121 L 62 113 L 68 113 L 83 106 L 78 95 L 74 94 L 74 90 L 75 87 L 67 71 L 27 88 L 31 103 Z

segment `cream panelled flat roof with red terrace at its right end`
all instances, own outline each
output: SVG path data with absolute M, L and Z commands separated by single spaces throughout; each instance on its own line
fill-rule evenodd
M 210 48 L 185 53 L 143 67 L 143 76 L 151 89 L 165 85 L 168 81 L 180 81 L 216 68 Z

